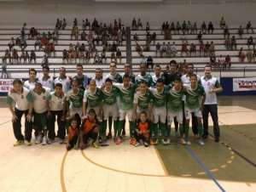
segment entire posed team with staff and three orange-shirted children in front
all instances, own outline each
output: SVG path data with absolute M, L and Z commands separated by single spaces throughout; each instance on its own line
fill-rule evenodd
M 32 145 L 32 129 L 35 129 L 35 144 L 53 144 L 55 138 L 59 138 L 67 150 L 84 150 L 90 143 L 97 149 L 99 144 L 110 142 L 110 138 L 114 144 L 120 144 L 128 123 L 130 144 L 137 147 L 142 139 L 145 147 L 166 145 L 171 144 L 172 121 L 175 122 L 173 133 L 180 137 L 180 143 L 190 145 L 191 118 L 196 121 L 196 127 L 192 125 L 194 137 L 203 146 L 203 139 L 208 138 L 209 113 L 218 142 L 216 93 L 222 91 L 218 79 L 211 76 L 209 65 L 201 77 L 193 73 L 191 64 L 188 73 L 181 76 L 175 71 L 176 65 L 172 60 L 171 71 L 163 74 L 160 65 L 155 65 L 155 74 L 151 76 L 146 73 L 146 65 L 141 64 L 140 74 L 136 76 L 131 73 L 129 63 L 125 63 L 124 73 L 120 75 L 116 72 L 116 63 L 111 62 L 107 76 L 96 69 L 96 76 L 90 81 L 83 75 L 83 65 L 77 65 L 78 75 L 73 78 L 66 76 L 64 67 L 60 68 L 59 77 L 49 76 L 49 68 L 44 67 L 44 76 L 37 80 L 37 71 L 32 69 L 28 81 L 13 82 L 6 99 L 17 140 L 14 146 Z M 25 135 L 20 123 L 23 114 Z

